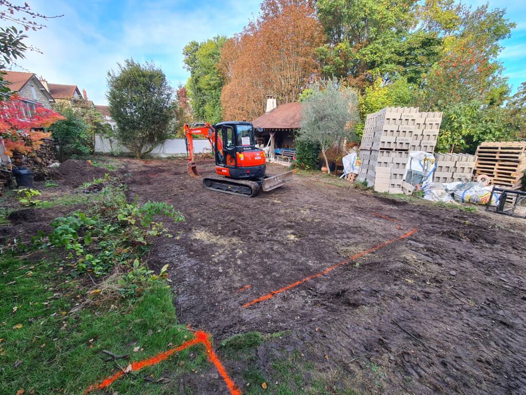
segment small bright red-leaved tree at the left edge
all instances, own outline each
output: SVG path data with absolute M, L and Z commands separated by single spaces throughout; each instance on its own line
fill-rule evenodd
M 13 96 L 9 101 L 0 102 L 0 137 L 4 142 L 5 152 L 31 154 L 43 144 L 43 139 L 51 136 L 44 131 L 64 117 L 43 106 L 29 108 L 24 102 Z

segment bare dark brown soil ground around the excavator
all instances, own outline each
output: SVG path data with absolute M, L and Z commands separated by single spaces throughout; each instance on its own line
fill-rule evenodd
M 213 173 L 211 160 L 201 174 Z M 270 173 L 284 171 L 269 166 Z M 368 393 L 526 393 L 524 222 L 414 205 L 297 175 L 256 198 L 206 191 L 186 163 L 125 160 L 130 197 L 173 204 L 170 265 L 182 322 L 225 339 L 290 330 L 258 349 L 299 350 Z M 244 304 L 418 229 L 268 300 Z M 227 367 L 240 382 L 241 366 Z M 213 392 L 192 380 L 199 393 Z

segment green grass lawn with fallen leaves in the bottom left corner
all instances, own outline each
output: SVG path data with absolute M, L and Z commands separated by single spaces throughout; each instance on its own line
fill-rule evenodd
M 85 287 L 63 274 L 55 262 L 0 261 L 0 382 L 3 394 L 82 393 L 94 382 L 119 369 L 104 362 L 100 351 L 130 354 L 130 361 L 165 351 L 193 337 L 179 325 L 171 291 L 156 284 L 139 298 L 91 306 L 69 313 L 85 300 Z M 134 349 L 137 350 L 134 352 Z M 192 357 L 190 357 L 192 354 Z M 183 362 L 180 366 L 180 362 Z M 117 361 L 125 368 L 128 360 Z M 161 378 L 207 367 L 200 345 L 180 352 L 158 366 L 129 373 L 112 385 L 132 394 L 163 393 L 164 386 L 143 384 L 144 377 Z M 143 385 L 141 385 L 143 384 Z M 34 391 L 34 392 L 32 392 Z

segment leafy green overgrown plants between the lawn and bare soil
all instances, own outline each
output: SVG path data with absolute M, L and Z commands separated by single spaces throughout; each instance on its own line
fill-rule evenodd
M 155 215 L 184 221 L 183 215 L 166 203 L 127 203 L 122 187 L 110 185 L 100 193 L 106 198 L 99 199 L 92 210 L 76 211 L 51 224 L 54 230 L 49 234 L 49 243 L 68 251 L 68 261 L 78 272 L 98 276 L 117 266 L 131 266 L 132 273 L 137 272 L 134 262 L 140 262 L 148 250 L 149 239 L 161 235 L 171 237 L 163 223 L 154 220 Z M 143 279 L 137 275 L 124 279 L 132 278 Z

